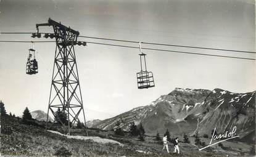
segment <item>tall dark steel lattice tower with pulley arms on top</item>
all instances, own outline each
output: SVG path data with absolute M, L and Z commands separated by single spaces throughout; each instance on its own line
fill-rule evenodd
M 54 34 L 44 33 L 44 38 L 50 37 L 56 39 L 46 130 L 48 129 L 49 112 L 51 112 L 54 115 L 54 122 L 58 121 L 58 123 L 61 123 L 62 131 L 70 134 L 70 130 L 74 124 L 80 121 L 78 119 L 79 115 L 82 114 L 83 120 L 85 121 L 85 110 L 83 108 L 74 45 L 86 46 L 86 42 L 77 42 L 78 31 L 55 22 L 51 18 L 49 18 L 48 23 L 36 24 L 37 33 L 33 33 L 31 37 L 41 37 L 41 33 L 38 32 L 39 26 L 52 26 Z M 57 115 L 56 111 L 58 108 L 60 108 L 61 114 Z M 63 115 L 67 115 L 68 121 L 64 121 L 61 118 Z

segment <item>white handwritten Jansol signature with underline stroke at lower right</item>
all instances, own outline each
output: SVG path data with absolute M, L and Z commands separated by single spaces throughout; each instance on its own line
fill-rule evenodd
M 204 148 L 200 148 L 199 151 L 204 150 L 207 147 L 211 147 L 213 145 L 216 145 L 217 143 L 224 142 L 225 140 L 230 140 L 230 139 L 234 139 L 236 137 L 239 137 L 239 135 L 235 134 L 236 133 L 236 126 L 233 127 L 233 130 L 231 132 L 226 131 L 224 134 L 215 134 L 215 131 L 216 131 L 216 127 L 214 128 L 214 131 L 213 131 L 213 134 L 212 134 L 212 139 L 210 140 L 209 145 L 207 145 Z M 228 137 L 228 139 L 212 143 L 212 140 L 219 140 L 219 139 L 223 139 L 223 138 L 226 138 L 226 137 Z

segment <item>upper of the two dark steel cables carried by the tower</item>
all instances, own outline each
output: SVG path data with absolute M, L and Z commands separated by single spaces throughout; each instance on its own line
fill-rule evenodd
M 32 34 L 32 33 L 33 32 L 2 32 L 0 34 Z M 47 34 L 47 33 L 41 33 L 41 34 Z M 128 41 L 128 40 L 121 40 L 121 39 L 98 38 L 98 37 L 93 37 L 93 36 L 78 36 L 78 37 L 90 38 L 90 39 L 101 39 L 101 40 L 107 40 L 107 41 L 131 42 L 131 43 L 139 42 L 139 41 Z M 141 42 L 141 43 L 157 45 L 157 46 L 185 47 L 185 48 L 191 48 L 191 49 L 221 50 L 221 51 L 229 51 L 229 52 L 256 54 L 256 52 L 246 51 L 246 50 L 216 49 L 216 48 L 210 48 L 210 47 L 183 46 L 183 45 L 176 45 L 176 44 L 161 44 L 161 43 L 153 43 L 153 42 Z

